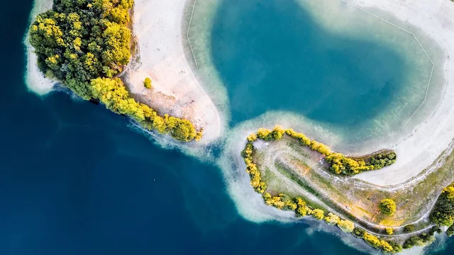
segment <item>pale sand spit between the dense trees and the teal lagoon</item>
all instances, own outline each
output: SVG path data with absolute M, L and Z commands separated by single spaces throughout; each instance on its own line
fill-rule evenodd
M 124 78 L 135 98 L 160 114 L 191 120 L 204 130 L 201 142 L 208 143 L 221 135 L 222 125 L 214 103 L 184 57 L 186 4 L 186 0 L 135 0 L 137 52 Z M 153 90 L 144 88 L 146 77 L 153 80 Z

